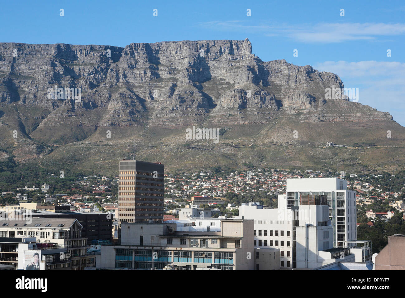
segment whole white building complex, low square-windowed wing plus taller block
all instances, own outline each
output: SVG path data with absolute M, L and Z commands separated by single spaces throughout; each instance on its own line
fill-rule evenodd
M 297 180 L 298 182 L 319 180 L 323 185 L 318 186 L 317 189 L 316 183 L 312 185 L 309 182 L 292 183 Z M 340 232 L 342 227 L 349 230 L 347 226 L 352 221 L 356 226 L 355 218 L 347 216 L 350 218 L 347 220 L 345 216 L 345 214 L 354 214 L 354 216 L 356 214 L 350 208 L 348 210 L 345 208 L 351 206 L 350 202 L 355 200 L 355 194 L 353 194 L 355 192 L 340 191 L 345 184 L 343 184 L 344 180 L 341 180 L 342 183 L 339 180 L 341 179 L 287 179 L 289 195 L 279 195 L 277 209 L 259 209 L 261 206 L 254 206 L 254 204 L 239 206 L 240 219 L 254 219 L 255 248 L 280 249 L 281 268 L 318 268 L 342 260 L 355 262 L 356 256 L 351 251 L 352 247 L 346 245 L 346 239 L 349 238 L 347 234 L 344 234 L 344 242 L 338 242 L 341 245 L 334 247 L 334 241 L 337 240 L 336 227 Z M 341 208 L 342 204 L 343 208 Z M 352 206 L 355 206 L 355 203 L 352 203 Z M 332 207 L 335 208 L 333 213 Z M 330 214 L 335 215 L 335 225 L 332 224 Z M 340 225 L 341 222 L 345 225 Z M 360 252 L 358 262 L 362 262 L 361 252 L 364 249 L 356 251 Z

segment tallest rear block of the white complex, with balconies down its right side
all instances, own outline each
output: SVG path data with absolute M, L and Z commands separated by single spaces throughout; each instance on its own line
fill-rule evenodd
M 347 190 L 347 181 L 339 178 L 287 179 L 287 208 L 298 206 L 304 195 L 326 195 L 329 218 L 333 225 L 333 245 L 345 246 L 357 239 L 356 191 Z

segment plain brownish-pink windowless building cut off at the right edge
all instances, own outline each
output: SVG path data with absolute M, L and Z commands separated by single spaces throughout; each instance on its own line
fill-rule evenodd
M 388 237 L 388 245 L 375 257 L 375 270 L 405 270 L 405 235 Z

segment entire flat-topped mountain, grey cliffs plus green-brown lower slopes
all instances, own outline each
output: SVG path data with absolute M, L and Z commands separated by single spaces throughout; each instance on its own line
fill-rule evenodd
M 325 99 L 327 88 L 343 87 L 309 65 L 260 60 L 248 39 L 0 43 L 0 156 L 115 173 L 135 142 L 138 159 L 169 169 L 399 167 L 404 128 L 347 96 Z M 67 98 L 68 88 L 80 98 Z M 220 141 L 187 139 L 193 125 L 220 128 Z

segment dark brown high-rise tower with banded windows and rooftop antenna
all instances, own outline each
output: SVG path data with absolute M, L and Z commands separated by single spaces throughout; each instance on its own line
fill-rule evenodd
M 119 161 L 118 224 L 163 222 L 164 165 Z

